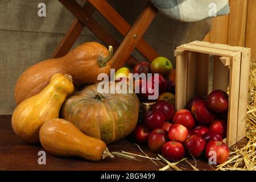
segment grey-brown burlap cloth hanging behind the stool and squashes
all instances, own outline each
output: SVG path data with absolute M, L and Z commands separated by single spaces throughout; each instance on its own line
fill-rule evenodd
M 38 16 L 38 4 L 42 2 L 47 6 L 45 18 Z M 147 0 L 109 2 L 132 24 Z M 12 114 L 15 108 L 13 92 L 18 77 L 32 64 L 51 57 L 74 16 L 56 0 L 1 0 L 0 12 L 0 114 Z M 122 40 L 122 36 L 99 14 L 94 13 L 94 17 L 119 41 Z M 158 14 L 144 39 L 160 55 L 168 57 L 175 64 L 175 47 L 193 40 L 202 40 L 209 30 L 210 20 L 181 23 Z M 85 28 L 75 46 L 88 41 L 100 42 Z M 136 51 L 133 54 L 138 60 L 144 60 Z

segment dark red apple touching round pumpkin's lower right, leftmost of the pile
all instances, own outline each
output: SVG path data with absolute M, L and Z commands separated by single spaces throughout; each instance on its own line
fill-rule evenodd
M 149 134 L 150 134 L 150 131 L 144 125 L 137 125 L 135 127 L 135 130 L 133 131 L 134 139 L 138 143 L 147 142 L 147 138 Z

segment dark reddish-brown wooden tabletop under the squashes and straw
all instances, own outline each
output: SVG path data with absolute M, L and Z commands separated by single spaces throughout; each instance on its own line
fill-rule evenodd
M 243 146 L 246 143 L 244 138 L 239 142 L 238 146 Z M 127 139 L 122 139 L 108 146 L 109 151 L 126 151 L 134 154 L 143 155 L 135 146 L 134 143 Z M 150 157 L 155 157 L 156 154 L 147 147 L 146 144 L 141 145 L 141 148 Z M 46 152 L 46 165 L 38 164 L 38 152 L 44 150 L 40 144 L 32 145 L 18 138 L 11 128 L 11 115 L 0 115 L 0 170 L 158 170 L 163 165 L 158 163 L 156 166 L 148 159 L 139 158 L 140 161 L 127 160 L 123 158 L 114 159 L 106 158 L 100 162 L 89 162 L 77 157 L 59 157 Z M 188 160 L 195 165 L 193 159 Z M 197 168 L 200 170 L 213 170 L 209 166 L 207 160 L 197 159 Z M 183 170 L 193 170 L 187 162 L 181 162 L 177 165 Z

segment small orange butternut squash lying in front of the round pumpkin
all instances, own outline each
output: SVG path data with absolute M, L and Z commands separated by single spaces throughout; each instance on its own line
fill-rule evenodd
M 44 149 L 59 156 L 80 156 L 97 161 L 114 158 L 106 144 L 97 138 L 88 137 L 65 119 L 51 119 L 40 129 L 40 142 Z

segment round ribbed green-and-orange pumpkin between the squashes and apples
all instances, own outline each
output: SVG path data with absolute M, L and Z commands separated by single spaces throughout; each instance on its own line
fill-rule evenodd
M 109 88 L 117 83 L 108 82 Z M 69 97 L 61 117 L 84 134 L 112 143 L 129 135 L 137 125 L 139 100 L 135 93 L 98 93 L 98 84 L 86 86 Z M 119 90 L 120 91 L 120 90 Z

